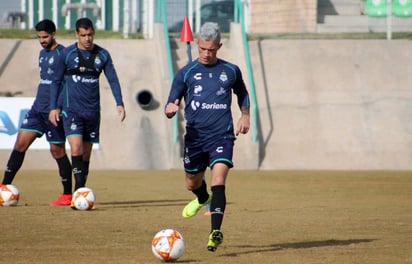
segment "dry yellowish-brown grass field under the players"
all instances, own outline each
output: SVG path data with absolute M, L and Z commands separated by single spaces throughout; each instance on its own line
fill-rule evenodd
M 55 171 L 21 171 L 17 207 L 0 208 L 0 263 L 159 263 L 151 239 L 180 231 L 179 263 L 412 263 L 412 172 L 231 171 L 223 244 L 209 217 L 183 219 L 183 173 L 92 171 L 97 209 L 49 207 Z

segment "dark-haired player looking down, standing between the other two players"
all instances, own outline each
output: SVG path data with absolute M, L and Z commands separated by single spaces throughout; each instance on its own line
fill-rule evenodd
M 90 155 L 94 143 L 99 143 L 100 87 L 99 77 L 104 72 L 117 105 L 120 120 L 126 117 L 119 79 L 109 52 L 94 44 L 94 26 L 90 19 L 76 21 L 77 42 L 63 50 L 56 73 L 55 85 L 64 83 L 62 118 L 70 144 L 72 167 L 77 190 L 84 187 L 89 172 Z M 51 93 L 50 121 L 57 125 L 59 94 Z

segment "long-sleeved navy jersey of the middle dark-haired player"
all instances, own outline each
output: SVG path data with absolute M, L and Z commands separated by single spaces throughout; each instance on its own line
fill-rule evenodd
M 109 82 L 116 105 L 123 106 L 119 79 L 109 52 L 94 44 L 93 50 L 81 50 L 74 43 L 63 50 L 56 75 L 56 86 L 62 81 L 62 106 L 77 112 L 100 111 L 99 76 L 103 72 Z M 50 107 L 58 105 L 58 90 L 52 90 Z M 59 101 L 60 104 L 60 101 Z

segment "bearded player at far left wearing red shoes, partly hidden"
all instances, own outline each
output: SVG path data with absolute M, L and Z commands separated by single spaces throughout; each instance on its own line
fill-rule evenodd
M 24 156 L 36 138 L 46 134 L 50 143 L 50 152 L 57 161 L 63 194 L 50 203 L 50 206 L 70 205 L 72 198 L 72 172 L 70 161 L 66 155 L 65 135 L 62 122 L 54 126 L 49 120 L 49 98 L 56 72 L 56 61 L 63 50 L 63 46 L 56 41 L 56 26 L 53 21 L 45 19 L 35 26 L 37 39 L 43 49 L 39 54 L 40 82 L 37 95 L 29 112 L 27 112 L 14 144 L 13 151 L 7 162 L 2 184 L 11 184 L 18 170 L 21 168 Z M 60 89 L 57 87 L 56 89 Z

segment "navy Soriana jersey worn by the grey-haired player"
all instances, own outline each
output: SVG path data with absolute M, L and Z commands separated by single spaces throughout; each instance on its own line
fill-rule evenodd
M 232 91 L 239 107 L 250 105 L 239 67 L 227 61 L 218 59 L 214 65 L 205 65 L 195 60 L 177 72 L 167 103 L 184 98 L 187 144 L 235 137 Z

